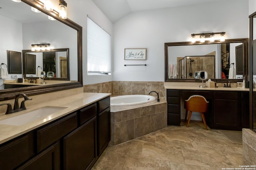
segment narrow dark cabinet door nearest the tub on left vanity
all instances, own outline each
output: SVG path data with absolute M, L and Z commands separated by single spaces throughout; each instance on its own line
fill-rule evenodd
M 110 108 L 98 115 L 98 155 L 108 146 L 110 141 Z

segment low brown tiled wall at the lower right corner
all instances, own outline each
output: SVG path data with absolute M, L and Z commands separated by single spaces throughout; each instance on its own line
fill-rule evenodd
M 242 129 L 244 165 L 256 165 L 256 133 Z

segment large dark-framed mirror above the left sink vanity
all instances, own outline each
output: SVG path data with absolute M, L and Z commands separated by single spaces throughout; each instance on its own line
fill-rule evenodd
M 72 20 L 63 20 L 56 15 L 56 11 L 49 12 L 44 10 L 43 4 L 38 0 L 21 0 L 17 3 L 11 0 L 4 0 L 0 4 L 0 21 L 3 27 L 0 28 L 0 59 L 6 58 L 6 51 L 22 52 L 22 68 L 23 75 L 26 78 L 34 77 L 36 74 L 32 72 L 25 72 L 24 69 L 36 62 L 42 69 L 47 69 L 48 72 L 54 72 L 54 68 L 49 68 L 50 64 L 46 64 L 46 55 L 57 55 L 60 57 L 53 57 L 55 60 L 56 68 L 53 77 L 48 80 L 69 80 L 60 82 L 59 84 L 47 84 L 44 86 L 10 88 L 0 90 L 0 100 L 7 100 L 14 98 L 18 93 L 25 93 L 28 95 L 42 94 L 47 92 L 54 92 L 58 90 L 66 90 L 70 88 L 82 87 L 82 27 Z M 40 10 L 40 13 L 32 12 L 31 7 Z M 55 20 L 49 20 L 48 16 Z M 4 35 L 5 34 L 5 35 Z M 44 52 L 32 52 L 31 44 L 50 43 L 52 51 L 44 54 Z M 64 50 L 62 50 L 64 49 Z M 34 55 L 32 57 L 35 61 L 24 62 L 24 57 L 27 54 Z M 53 54 L 54 53 L 54 54 Z M 29 59 L 27 57 L 26 59 Z M 45 58 L 45 62 L 43 61 Z M 65 59 L 66 58 L 66 61 Z M 42 61 L 41 61 L 42 59 Z M 3 60 L 1 60 L 3 61 Z M 54 59 L 53 59 L 54 61 Z M 42 63 L 37 63 L 42 62 Z M 49 61 L 48 61 L 49 62 Z M 29 65 L 25 65 L 25 64 Z M 62 66 L 60 66 L 62 64 Z M 44 67 L 45 66 L 45 67 Z M 57 71 L 56 69 L 60 69 Z M 61 73 L 62 69 L 62 73 Z M 66 69 L 66 71 L 65 71 Z M 34 71 L 34 70 L 33 70 Z M 55 75 L 56 74 L 56 75 Z M 62 74 L 62 75 L 61 75 Z

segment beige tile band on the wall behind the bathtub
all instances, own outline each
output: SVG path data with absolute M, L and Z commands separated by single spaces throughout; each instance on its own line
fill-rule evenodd
M 113 81 L 84 85 L 84 92 L 111 93 L 112 96 L 148 94 L 150 91 L 156 91 L 159 97 L 164 97 L 164 82 Z M 155 93 L 150 95 L 157 96 Z

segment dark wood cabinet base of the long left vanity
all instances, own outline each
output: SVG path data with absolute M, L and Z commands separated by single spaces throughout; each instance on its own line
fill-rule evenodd
M 110 97 L 0 145 L 0 169 L 92 168 L 110 141 Z

